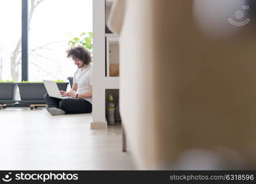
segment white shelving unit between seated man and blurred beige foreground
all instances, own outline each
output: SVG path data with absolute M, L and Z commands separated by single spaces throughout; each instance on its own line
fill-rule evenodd
M 106 28 L 113 2 L 114 0 L 93 1 L 94 88 L 91 129 L 107 128 L 106 91 L 119 90 L 119 36 Z M 114 98 L 118 98 L 118 95 Z

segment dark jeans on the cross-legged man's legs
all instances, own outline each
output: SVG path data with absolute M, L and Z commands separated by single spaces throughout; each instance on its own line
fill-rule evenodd
M 53 98 L 48 93 L 44 95 L 44 100 L 48 107 L 56 107 L 65 111 L 65 113 L 91 113 L 92 104 L 82 98 Z

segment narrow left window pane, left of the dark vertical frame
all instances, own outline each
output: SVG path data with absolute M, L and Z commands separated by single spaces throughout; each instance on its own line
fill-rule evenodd
M 0 1 L 0 79 L 21 79 L 22 3 Z

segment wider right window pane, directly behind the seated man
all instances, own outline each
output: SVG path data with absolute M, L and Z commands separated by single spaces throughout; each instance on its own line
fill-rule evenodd
M 31 7 L 31 4 L 29 8 Z M 76 66 L 66 58 L 68 40 L 92 31 L 92 0 L 44 0 L 29 31 L 29 79 L 65 80 Z

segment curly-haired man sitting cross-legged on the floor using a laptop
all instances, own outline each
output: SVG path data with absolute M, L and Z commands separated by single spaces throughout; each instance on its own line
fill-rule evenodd
M 68 58 L 72 58 L 78 66 L 74 72 L 73 86 L 70 91 L 60 91 L 65 99 L 52 98 L 49 94 L 44 96 L 47 111 L 51 115 L 65 113 L 90 113 L 92 112 L 92 60 L 90 52 L 84 47 L 75 47 L 67 50 Z

